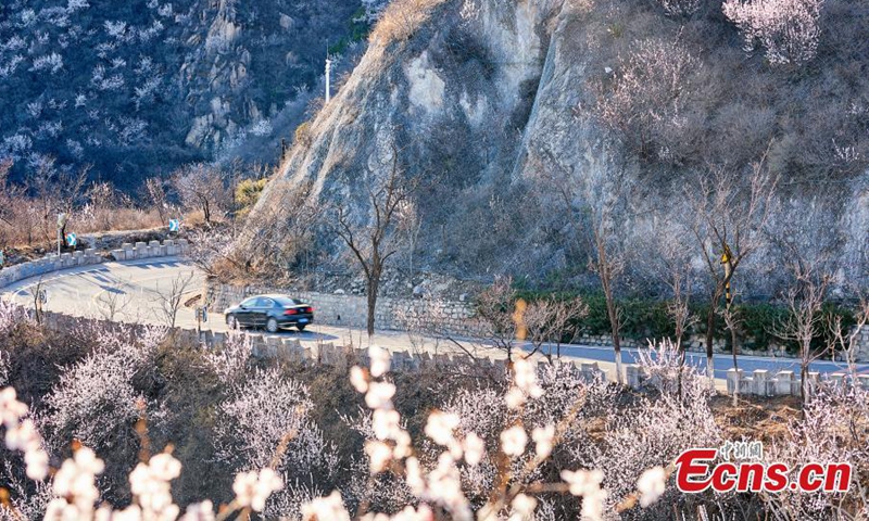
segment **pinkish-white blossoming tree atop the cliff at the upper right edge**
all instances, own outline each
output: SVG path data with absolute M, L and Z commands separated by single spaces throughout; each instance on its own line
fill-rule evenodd
M 772 65 L 802 65 L 818 51 L 823 0 L 728 0 L 721 9 L 751 52 L 759 42 Z

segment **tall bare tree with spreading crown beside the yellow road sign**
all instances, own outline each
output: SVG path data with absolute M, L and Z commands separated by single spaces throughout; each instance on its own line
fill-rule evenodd
M 729 291 L 736 269 L 763 244 L 761 231 L 772 206 L 777 179 L 769 175 L 765 158 L 766 155 L 752 165 L 747 179 L 716 168 L 710 177 L 700 176 L 696 187 L 685 191 L 693 215 L 692 232 L 711 282 L 706 314 L 706 370 L 710 382 L 715 379 L 713 343 L 721 297 Z M 732 295 L 728 307 L 731 302 Z

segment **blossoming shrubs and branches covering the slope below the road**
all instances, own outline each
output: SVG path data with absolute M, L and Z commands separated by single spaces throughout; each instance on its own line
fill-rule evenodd
M 215 509 L 245 507 L 254 519 L 324 521 L 349 520 L 348 511 L 408 519 L 406 508 L 420 509 L 410 518 L 419 520 L 469 520 L 484 508 L 503 514 L 495 519 L 518 510 L 552 521 L 866 513 L 869 393 L 859 389 L 831 389 L 801 415 L 788 401 L 731 405 L 693 369 L 677 391 L 675 358 L 647 358 L 655 379 L 635 393 L 567 364 L 406 374 L 391 372 L 377 347 L 369 354 L 364 370 L 348 370 L 257 359 L 241 335 L 210 352 L 159 328 L 83 322 L 53 332 L 0 303 L 0 387 L 9 385 L 0 519 L 55 519 L 59 509 L 91 519 L 97 508 L 213 519 Z M 682 450 L 742 436 L 765 443 L 767 462 L 849 461 L 852 492 L 676 490 L 671 463 Z M 86 466 L 93 454 L 100 462 Z M 34 478 L 49 467 L 60 470 L 47 484 Z M 261 469 L 274 470 L 266 491 Z M 245 493 L 249 472 L 259 501 Z

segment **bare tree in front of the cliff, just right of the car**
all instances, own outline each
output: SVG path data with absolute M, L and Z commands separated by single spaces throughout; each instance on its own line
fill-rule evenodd
M 343 204 L 338 205 L 330 219 L 331 228 L 350 247 L 365 275 L 367 285 L 368 336 L 374 334 L 375 306 L 383 268 L 405 244 L 406 224 L 401 220 L 401 208 L 412 200 L 417 187 L 416 178 L 405 177 L 399 165 L 399 150 L 392 145 L 391 167 L 383 178 L 365 183 L 369 218 L 361 221 Z

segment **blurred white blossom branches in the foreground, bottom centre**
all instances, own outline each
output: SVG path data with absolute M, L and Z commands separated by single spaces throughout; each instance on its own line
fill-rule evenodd
M 367 512 L 367 503 L 362 501 L 356 519 L 366 521 L 428 521 L 436 519 L 436 512 L 443 510 L 455 520 L 473 520 L 471 504 L 462 487 L 459 463 L 469 467 L 480 465 L 484 456 L 486 440 L 475 432 L 457 435 L 461 418 L 455 412 L 433 411 L 426 423 L 425 434 L 439 447 L 440 454 L 431 469 L 424 469 L 414 450 L 411 436 L 401 427 L 401 415 L 394 409 L 392 397 L 395 385 L 386 380 L 390 368 L 390 356 L 385 350 L 371 346 L 368 351 L 370 370 L 361 367 L 351 369 L 351 383 L 365 395 L 366 405 L 373 410 L 371 430 L 374 437 L 365 444 L 369 460 L 370 480 L 378 474 L 391 472 L 403 479 L 415 498 L 416 506 L 406 506 L 393 516 Z M 543 389 L 538 383 L 536 365 L 528 358 L 519 357 L 511 365 L 511 384 L 503 398 L 507 408 L 521 410 L 529 398 L 540 397 Z M 575 409 L 581 407 L 577 401 Z M 537 427 L 529 439 L 521 420 L 504 429 L 499 435 L 498 478 L 489 499 L 477 512 L 478 520 L 503 519 L 509 521 L 533 519 L 538 499 L 534 493 L 570 493 L 582 498 L 582 518 L 604 519 L 604 499 L 607 492 L 601 487 L 603 472 L 600 470 L 564 470 L 563 483 L 525 483 L 525 478 L 543 463 L 561 442 L 565 424 L 576 416 L 576 410 L 559 422 Z M 526 455 L 529 440 L 533 442 L 533 453 Z M 514 472 L 514 462 L 526 463 Z M 640 503 L 643 507 L 652 505 L 664 492 L 667 472 L 657 467 L 642 474 L 638 482 Z M 341 494 L 332 492 L 327 497 L 314 499 L 303 507 L 304 521 L 350 520 Z

